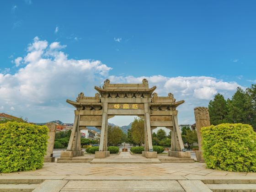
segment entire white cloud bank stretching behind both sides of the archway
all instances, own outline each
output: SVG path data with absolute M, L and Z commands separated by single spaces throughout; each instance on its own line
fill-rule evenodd
M 15 107 L 14 115 L 28 117 L 32 122 L 59 119 L 72 122 L 74 107 L 66 99 L 75 100 L 81 91 L 94 96 L 94 85 L 102 85 L 105 79 L 111 83 L 141 83 L 144 78 L 149 86 L 157 86 L 159 96 L 173 93 L 176 101 L 185 100 L 179 106 L 179 123 L 194 123 L 193 108 L 208 106 L 216 93 L 230 97 L 239 86 L 213 77 L 114 76 L 112 69 L 98 60 L 69 59 L 59 42 L 48 43 L 35 37 L 22 58 L 22 67 L 13 75 L 0 73 L 0 103 L 3 109 Z M 6 111 L 8 112 L 8 111 Z

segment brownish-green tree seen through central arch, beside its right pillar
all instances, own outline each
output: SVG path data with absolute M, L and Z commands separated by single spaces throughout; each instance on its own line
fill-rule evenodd
M 145 139 L 144 120 L 142 118 L 134 118 L 131 127 L 131 134 L 133 142 L 139 144 L 139 146 L 142 146 Z

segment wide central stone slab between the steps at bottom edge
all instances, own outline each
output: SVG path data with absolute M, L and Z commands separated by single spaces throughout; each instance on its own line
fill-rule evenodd
M 185 192 L 178 181 L 69 181 L 61 192 Z

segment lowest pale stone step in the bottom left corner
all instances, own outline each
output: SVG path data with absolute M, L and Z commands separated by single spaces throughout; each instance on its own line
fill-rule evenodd
M 0 184 L 0 192 L 32 192 L 39 184 Z

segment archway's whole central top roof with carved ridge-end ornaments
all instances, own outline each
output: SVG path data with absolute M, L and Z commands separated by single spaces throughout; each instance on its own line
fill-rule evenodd
M 95 86 L 95 89 L 102 93 L 120 93 L 120 92 L 132 92 L 132 93 L 149 93 L 150 95 L 155 91 L 156 86 L 149 88 L 148 81 L 142 80 L 142 83 L 138 84 L 110 84 L 110 80 L 105 80 L 102 88 Z

